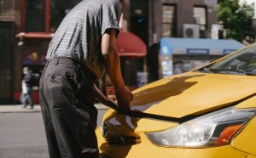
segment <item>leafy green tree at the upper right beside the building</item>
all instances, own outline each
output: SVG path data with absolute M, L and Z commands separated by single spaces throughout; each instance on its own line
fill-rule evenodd
M 218 21 L 227 31 L 227 37 L 242 42 L 252 29 L 253 8 L 238 0 L 218 0 Z

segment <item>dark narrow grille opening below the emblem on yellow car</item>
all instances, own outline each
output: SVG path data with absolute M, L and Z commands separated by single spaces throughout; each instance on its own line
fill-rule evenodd
M 142 142 L 139 136 L 118 136 L 106 139 L 109 145 L 133 145 Z

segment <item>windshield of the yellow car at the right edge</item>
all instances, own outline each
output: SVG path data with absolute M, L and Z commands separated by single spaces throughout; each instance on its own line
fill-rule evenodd
M 220 62 L 207 65 L 199 71 L 209 73 L 256 75 L 256 47 L 242 50 Z

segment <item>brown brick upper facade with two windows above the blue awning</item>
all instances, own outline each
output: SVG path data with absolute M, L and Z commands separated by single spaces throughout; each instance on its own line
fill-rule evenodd
M 161 37 L 186 37 L 186 24 L 199 25 L 199 37 L 207 38 L 217 23 L 217 0 L 130 0 L 130 20 L 129 30 L 148 46 Z

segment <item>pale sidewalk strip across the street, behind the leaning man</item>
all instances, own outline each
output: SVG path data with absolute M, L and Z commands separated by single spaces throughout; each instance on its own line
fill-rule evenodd
M 108 110 L 108 107 L 96 103 L 96 108 L 98 110 Z M 39 104 L 35 104 L 34 109 L 30 110 L 30 106 L 27 106 L 26 109 L 22 109 L 20 104 L 9 104 L 9 105 L 2 105 L 0 104 L 0 113 L 27 113 L 27 112 L 41 112 L 41 108 Z

